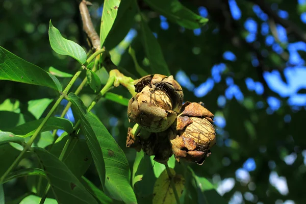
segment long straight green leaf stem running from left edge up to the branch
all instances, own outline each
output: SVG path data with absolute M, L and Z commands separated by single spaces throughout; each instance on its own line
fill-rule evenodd
M 37 138 L 37 136 L 39 135 L 40 131 L 42 130 L 43 126 L 46 124 L 46 122 L 48 121 L 48 119 L 52 116 L 52 114 L 55 112 L 55 110 L 57 109 L 57 107 L 60 105 L 62 99 L 67 95 L 68 91 L 70 90 L 70 88 L 72 87 L 72 85 L 74 84 L 74 82 L 78 79 L 79 75 L 81 74 L 81 71 L 78 71 L 77 73 L 74 74 L 74 76 L 72 77 L 71 81 L 68 83 L 67 87 L 64 89 L 64 91 L 62 92 L 61 96 L 57 99 L 57 101 L 55 102 L 55 104 L 53 105 L 53 107 L 51 108 L 51 110 L 48 112 L 47 116 L 43 119 L 43 121 L 41 122 L 41 124 L 37 127 L 36 131 L 34 132 L 33 136 L 30 138 L 30 140 L 24 145 L 23 150 L 20 152 L 19 156 L 15 159 L 15 161 L 13 162 L 13 164 L 6 170 L 6 172 L 1 176 L 0 178 L 0 184 L 3 183 L 3 181 L 5 180 L 6 176 L 12 171 L 13 168 L 15 168 L 15 166 L 17 166 L 17 164 L 19 163 L 19 161 L 21 160 L 22 156 L 25 154 L 25 152 L 27 152 L 30 148 L 31 145 L 33 144 L 34 140 Z

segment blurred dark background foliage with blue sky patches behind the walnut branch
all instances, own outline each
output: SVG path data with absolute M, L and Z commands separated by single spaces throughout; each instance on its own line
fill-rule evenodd
M 103 1 L 92 3 L 89 9 L 98 31 Z M 216 116 L 217 145 L 202 166 L 191 164 L 191 168 L 211 181 L 229 203 L 305 203 L 306 1 L 181 3 L 209 22 L 200 29 L 184 29 L 139 1 L 171 74 L 183 86 L 185 101 L 202 101 Z M 1 46 L 45 70 L 50 66 L 68 73 L 78 70 L 75 60 L 56 54 L 48 42 L 52 19 L 64 37 L 89 49 L 77 1 L 4 0 L 0 4 Z M 115 64 L 139 78 L 128 54 L 131 45 L 140 66 L 148 66 L 136 10 L 129 7 L 114 28 L 106 48 Z M 109 39 L 112 36 L 122 41 Z M 69 79 L 60 80 L 65 85 Z M 28 117 L 29 100 L 57 96 L 54 90 L 28 84 L 0 81 L 0 87 L 0 129 L 34 120 Z M 130 97 L 122 87 L 112 92 Z M 85 105 L 94 97 L 89 87 L 80 96 Z M 136 152 L 125 148 L 127 127 L 131 126 L 126 107 L 103 98 L 93 112 L 132 167 Z M 74 122 L 71 110 L 65 117 Z M 180 171 L 183 165 L 176 164 L 175 169 Z M 94 181 L 92 169 L 86 176 Z M 5 191 L 10 199 L 27 188 L 21 178 L 8 183 Z M 200 198 L 197 201 L 201 203 Z

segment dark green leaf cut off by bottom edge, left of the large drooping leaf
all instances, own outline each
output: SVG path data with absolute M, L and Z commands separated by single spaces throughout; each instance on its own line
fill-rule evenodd
M 97 203 L 70 169 L 57 157 L 40 147 L 33 147 L 59 203 Z

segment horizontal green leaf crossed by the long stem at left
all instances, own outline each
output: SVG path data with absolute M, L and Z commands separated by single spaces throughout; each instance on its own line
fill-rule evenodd
M 3 129 L 5 132 L 12 132 L 15 135 L 22 136 L 23 138 L 29 137 L 34 134 L 38 126 L 41 124 L 42 120 L 44 118 L 41 118 L 39 120 L 30 121 L 24 124 L 21 124 L 19 126 L 10 128 L 10 129 Z M 50 117 L 48 121 L 43 126 L 41 132 L 45 131 L 52 131 L 52 130 L 64 130 L 67 133 L 72 132 L 73 124 L 71 121 L 60 118 L 60 117 Z

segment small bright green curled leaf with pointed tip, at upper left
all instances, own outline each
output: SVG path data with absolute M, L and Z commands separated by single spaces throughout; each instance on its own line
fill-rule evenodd
M 86 62 L 86 53 L 85 50 L 78 45 L 77 43 L 65 39 L 60 31 L 52 25 L 50 20 L 49 24 L 49 41 L 52 49 L 60 55 L 68 55 L 81 64 Z

